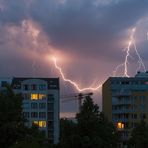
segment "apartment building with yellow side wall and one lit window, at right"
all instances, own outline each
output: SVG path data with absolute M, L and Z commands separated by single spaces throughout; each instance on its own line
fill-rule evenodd
M 138 122 L 148 123 L 148 72 L 138 72 L 135 77 L 110 77 L 103 84 L 102 95 L 103 112 L 119 130 L 123 143 Z

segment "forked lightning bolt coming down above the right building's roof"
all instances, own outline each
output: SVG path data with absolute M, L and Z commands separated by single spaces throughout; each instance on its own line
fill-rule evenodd
M 114 76 L 116 76 L 116 73 L 117 73 L 117 71 L 118 71 L 119 68 L 124 67 L 124 74 L 123 74 L 123 76 L 124 77 L 129 77 L 129 74 L 128 74 L 128 64 L 129 64 L 128 59 L 130 57 L 132 57 L 130 55 L 130 51 L 132 49 L 131 48 L 132 45 L 133 45 L 133 47 L 134 47 L 133 49 L 134 49 L 134 51 L 135 51 L 135 53 L 136 53 L 136 55 L 138 57 L 138 67 L 137 67 L 137 70 L 136 71 L 139 71 L 141 68 L 143 68 L 143 70 L 146 71 L 145 65 L 143 63 L 143 60 L 142 60 L 142 58 L 141 58 L 141 56 L 140 56 L 140 54 L 138 52 L 137 46 L 136 46 L 136 42 L 135 42 L 135 38 L 134 38 L 135 32 L 136 32 L 136 27 L 134 27 L 132 29 L 132 32 L 131 32 L 131 35 L 130 35 L 130 40 L 128 42 L 128 46 L 125 48 L 126 55 L 125 55 L 124 63 L 118 65 L 115 68 L 115 70 L 113 71 L 113 75 Z

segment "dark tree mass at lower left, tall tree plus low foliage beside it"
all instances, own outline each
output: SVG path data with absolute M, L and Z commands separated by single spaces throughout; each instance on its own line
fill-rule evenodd
M 44 145 L 45 137 L 37 127 L 24 126 L 22 100 L 21 94 L 14 94 L 9 86 L 0 93 L 0 145 L 3 148 L 38 148 Z

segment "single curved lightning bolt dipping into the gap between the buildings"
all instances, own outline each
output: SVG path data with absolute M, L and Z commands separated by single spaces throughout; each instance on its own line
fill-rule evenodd
M 55 57 L 53 57 L 52 60 L 53 60 L 53 62 L 54 62 L 55 68 L 59 71 L 59 73 L 60 73 L 62 79 L 63 79 L 65 82 L 69 82 L 70 84 L 72 84 L 79 92 L 88 91 L 88 90 L 89 90 L 89 91 L 96 91 L 96 90 L 99 90 L 99 89 L 102 87 L 102 84 L 99 84 L 99 85 L 96 86 L 96 87 L 80 88 L 80 86 L 79 86 L 76 82 L 74 82 L 74 81 L 72 81 L 72 80 L 70 80 L 70 79 L 67 79 L 67 78 L 65 77 L 65 75 L 64 75 L 64 73 L 63 73 L 63 71 L 62 71 L 62 69 L 61 69 L 61 68 L 58 66 L 58 64 L 57 64 L 57 59 L 56 59 Z

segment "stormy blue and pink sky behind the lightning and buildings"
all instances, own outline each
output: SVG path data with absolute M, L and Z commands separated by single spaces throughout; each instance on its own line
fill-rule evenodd
M 132 29 L 137 50 L 148 67 L 148 0 L 0 0 L 0 76 L 65 76 L 82 88 L 101 84 L 125 60 Z M 128 74 L 138 57 L 131 46 Z M 143 69 L 140 69 L 143 70 Z M 118 69 L 122 76 L 124 67 Z M 61 94 L 77 90 L 61 80 Z M 101 93 L 95 92 L 101 106 Z M 73 112 L 77 103 L 61 103 Z

